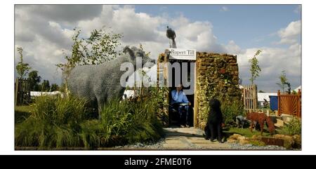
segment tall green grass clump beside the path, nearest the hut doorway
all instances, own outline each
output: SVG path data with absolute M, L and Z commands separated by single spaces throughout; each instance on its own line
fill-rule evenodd
M 111 100 L 101 109 L 100 120 L 93 123 L 93 126 L 81 124 L 85 147 L 154 142 L 163 135 L 162 124 L 157 119 L 154 107 L 145 100 Z

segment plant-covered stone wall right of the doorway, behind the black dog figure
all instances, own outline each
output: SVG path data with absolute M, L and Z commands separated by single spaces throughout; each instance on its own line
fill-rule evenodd
M 208 102 L 217 98 L 221 102 L 225 123 L 242 114 L 242 91 L 239 89 L 237 56 L 197 52 L 197 127 L 204 128 Z

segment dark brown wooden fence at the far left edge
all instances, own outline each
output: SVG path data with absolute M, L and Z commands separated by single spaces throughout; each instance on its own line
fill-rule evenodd
M 14 104 L 28 104 L 31 100 L 31 90 L 27 79 L 15 79 Z

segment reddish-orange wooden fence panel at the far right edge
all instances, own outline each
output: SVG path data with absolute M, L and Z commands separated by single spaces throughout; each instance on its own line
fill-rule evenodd
M 289 114 L 301 118 L 301 90 L 297 95 L 281 94 L 277 91 L 277 115 Z

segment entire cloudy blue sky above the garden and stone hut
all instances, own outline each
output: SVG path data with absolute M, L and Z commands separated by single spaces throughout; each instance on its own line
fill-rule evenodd
M 65 62 L 73 28 L 84 36 L 110 27 L 124 46 L 143 44 L 156 59 L 169 48 L 166 25 L 176 31 L 178 48 L 237 55 L 239 77 L 249 84 L 249 58 L 256 50 L 261 67 L 258 90 L 275 93 L 284 70 L 292 89 L 301 85 L 301 7 L 298 5 L 15 5 L 15 48 L 42 79 L 61 82 L 55 67 Z M 15 63 L 18 55 L 15 52 Z

